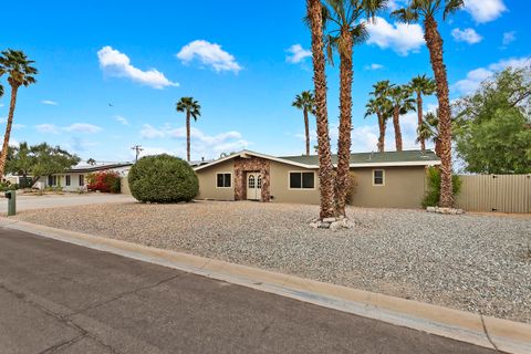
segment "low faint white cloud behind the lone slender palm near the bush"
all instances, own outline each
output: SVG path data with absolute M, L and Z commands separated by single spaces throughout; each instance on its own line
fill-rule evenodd
M 156 128 L 145 124 L 140 131 L 140 136 L 146 139 L 173 138 L 183 140 L 181 148 L 177 155 L 185 156 L 186 149 L 184 140 L 186 139 L 186 127 L 171 128 L 168 125 Z M 191 127 L 191 154 L 196 157 L 219 157 L 221 153 L 239 152 L 247 148 L 250 143 L 241 136 L 239 132 L 225 132 L 217 135 L 207 135 L 200 129 Z

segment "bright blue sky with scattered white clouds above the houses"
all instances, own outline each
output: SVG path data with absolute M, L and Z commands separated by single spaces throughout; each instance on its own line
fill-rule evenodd
M 391 1 L 399 6 L 406 0 Z M 440 25 L 451 98 L 531 54 L 525 1 L 466 0 Z M 201 103 L 192 123 L 192 158 L 243 148 L 272 155 L 303 153 L 303 119 L 291 106 L 312 88 L 310 33 L 304 0 L 24 2 L 24 21 L 2 7 L 0 49 L 23 50 L 37 61 L 39 83 L 19 92 L 12 144 L 48 142 L 83 158 L 131 160 L 146 154 L 185 154 L 181 96 Z M 529 62 L 528 62 L 529 63 Z M 406 83 L 431 75 L 421 28 L 382 13 L 367 43 L 356 46 L 353 152 L 376 149 L 374 117 L 364 119 L 373 83 Z M 327 66 L 333 146 L 339 115 L 339 71 Z M 7 86 L 6 79 L 1 82 Z M 8 87 L 6 87 L 8 88 Z M 9 90 L 0 98 L 0 128 Z M 434 108 L 435 97 L 426 100 Z M 112 106 L 111 106 L 111 105 Z M 403 117 L 405 147 L 415 148 L 415 114 Z M 312 119 L 312 131 L 315 123 Z M 393 149 L 389 128 L 387 148 Z

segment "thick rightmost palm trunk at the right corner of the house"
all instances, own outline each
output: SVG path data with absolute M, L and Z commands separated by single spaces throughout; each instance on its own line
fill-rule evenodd
M 448 77 L 442 59 L 442 39 L 434 18 L 424 21 L 426 44 L 437 83 L 437 98 L 439 101 L 439 150 L 440 150 L 440 206 L 451 208 L 454 194 L 451 186 L 451 112 L 448 91 Z

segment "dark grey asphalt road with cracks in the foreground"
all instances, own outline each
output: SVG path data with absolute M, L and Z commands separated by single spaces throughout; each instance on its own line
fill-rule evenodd
M 493 353 L 0 228 L 0 353 Z

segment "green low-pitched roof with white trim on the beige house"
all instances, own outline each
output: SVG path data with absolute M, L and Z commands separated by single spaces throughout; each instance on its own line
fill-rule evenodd
M 293 165 L 302 168 L 319 168 L 317 155 L 300 155 L 300 156 L 282 156 L 275 157 L 254 153 L 250 150 L 242 150 L 211 163 L 195 167 L 195 170 L 200 170 L 222 162 L 241 157 L 249 158 L 250 156 L 261 157 L 264 159 L 274 160 L 282 164 Z M 337 164 L 337 155 L 332 155 L 333 164 Z M 407 152 L 387 152 L 387 153 L 360 153 L 351 154 L 351 167 L 387 167 L 387 166 L 434 166 L 440 165 L 440 159 L 431 150 L 407 150 Z

